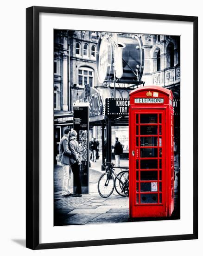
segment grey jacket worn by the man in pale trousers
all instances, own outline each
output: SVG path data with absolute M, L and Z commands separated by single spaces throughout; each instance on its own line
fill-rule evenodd
M 64 135 L 59 143 L 59 162 L 70 165 L 70 155 L 69 139 Z

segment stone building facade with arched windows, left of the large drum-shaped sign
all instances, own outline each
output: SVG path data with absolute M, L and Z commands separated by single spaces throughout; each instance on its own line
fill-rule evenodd
M 96 45 L 99 33 L 55 30 L 54 34 L 54 112 L 73 110 L 84 85 L 98 85 Z

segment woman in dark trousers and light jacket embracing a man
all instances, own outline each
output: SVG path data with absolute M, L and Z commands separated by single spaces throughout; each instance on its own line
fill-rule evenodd
M 80 197 L 82 196 L 82 187 L 80 181 L 80 165 L 82 164 L 82 162 L 80 161 L 80 151 L 77 142 L 77 132 L 74 130 L 70 131 L 69 147 L 71 151 L 70 164 L 74 175 L 74 182 L 76 185 L 76 191 L 73 197 Z

